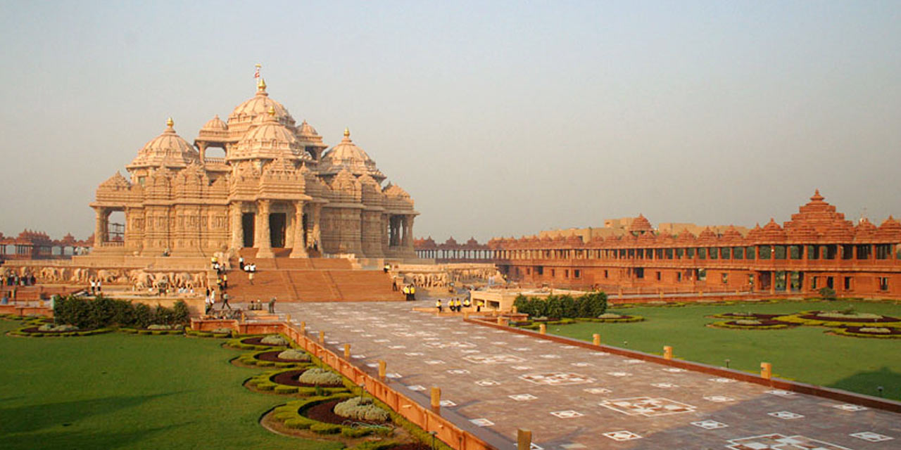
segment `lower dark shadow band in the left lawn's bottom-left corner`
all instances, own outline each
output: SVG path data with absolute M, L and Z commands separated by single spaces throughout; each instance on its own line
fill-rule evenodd
M 131 448 L 135 443 L 141 442 L 152 434 L 181 427 L 181 425 L 169 425 L 168 427 L 147 428 L 132 431 L 97 433 L 96 430 L 82 431 L 38 431 L 35 433 L 21 433 L 4 437 L 4 448 L 8 449 L 50 449 L 50 448 L 77 448 L 109 449 Z

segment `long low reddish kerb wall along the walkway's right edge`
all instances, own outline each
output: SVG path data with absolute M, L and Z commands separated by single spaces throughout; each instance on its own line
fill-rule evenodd
M 701 363 L 694 363 L 690 361 L 683 361 L 679 359 L 666 359 L 663 356 L 651 355 L 650 353 L 638 352 L 635 350 L 626 350 L 620 347 L 609 347 L 609 346 L 596 346 L 589 342 L 572 339 L 572 338 L 564 338 L 562 336 L 555 335 L 542 335 L 539 332 L 535 332 L 528 329 L 517 329 L 515 327 L 509 327 L 505 325 L 498 325 L 496 322 L 490 322 L 487 320 L 481 319 L 464 319 L 469 323 L 475 323 L 478 325 L 483 325 L 486 327 L 491 327 L 494 329 L 503 329 L 505 331 L 509 331 L 511 333 L 518 333 L 521 335 L 529 336 L 531 338 L 539 338 L 550 340 L 553 342 L 558 342 L 560 344 L 565 344 L 568 346 L 582 347 L 587 348 L 593 351 L 602 351 L 606 353 L 611 353 L 614 355 L 627 356 L 633 359 L 641 359 L 642 361 L 648 361 L 651 363 L 657 363 L 660 365 L 669 365 L 671 367 L 678 367 L 680 369 L 686 369 L 693 372 L 700 372 L 702 374 L 711 374 L 717 377 L 722 378 L 731 378 L 733 380 L 738 380 L 747 383 L 760 384 L 763 386 L 769 386 L 776 389 L 781 389 L 783 391 L 791 391 L 791 392 L 800 392 L 809 395 L 815 395 L 817 397 L 822 397 L 824 399 L 830 399 L 834 401 L 844 401 L 846 403 L 854 403 L 857 405 L 866 406 L 868 408 L 875 408 L 878 410 L 887 410 L 892 412 L 901 412 L 901 401 L 891 401 L 887 399 L 881 399 L 878 397 L 872 397 L 869 395 L 854 393 L 854 392 L 846 392 L 839 391 L 837 389 L 829 389 L 824 388 L 823 386 L 815 386 L 814 384 L 807 383 L 797 383 L 790 382 L 787 380 L 782 380 L 779 378 L 762 378 L 755 374 L 749 374 L 747 372 L 741 372 L 733 369 L 726 369 L 724 367 L 718 367 L 715 365 L 705 365 Z

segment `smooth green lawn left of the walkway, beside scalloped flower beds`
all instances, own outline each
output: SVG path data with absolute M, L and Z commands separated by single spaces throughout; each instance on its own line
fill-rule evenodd
M 0 320 L 0 332 L 21 327 Z M 228 360 L 220 339 L 111 333 L 0 336 L 4 449 L 332 449 L 282 437 L 259 417 L 284 403 L 241 383 L 259 371 Z

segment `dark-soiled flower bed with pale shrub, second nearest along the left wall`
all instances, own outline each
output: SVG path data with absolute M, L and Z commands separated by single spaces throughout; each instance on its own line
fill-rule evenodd
M 311 372 L 304 376 L 306 372 Z M 332 374 L 333 376 L 324 375 Z M 312 383 L 310 383 L 312 382 Z M 278 394 L 314 395 L 316 393 L 333 394 L 346 392 L 341 375 L 319 368 L 289 368 L 277 372 L 259 374 L 250 378 L 247 385 L 258 391 L 272 391 Z

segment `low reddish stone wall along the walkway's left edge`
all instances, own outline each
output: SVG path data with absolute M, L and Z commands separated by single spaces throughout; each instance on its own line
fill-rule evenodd
M 405 419 L 423 428 L 426 432 L 435 432 L 435 437 L 455 450 L 496 450 L 512 445 L 510 441 L 489 435 L 488 432 L 475 425 L 469 425 L 468 419 L 453 411 L 432 410 L 432 407 L 429 406 L 429 398 L 423 394 L 401 393 L 395 389 L 395 383 L 380 378 L 378 373 L 370 374 L 370 371 L 353 365 L 349 360 L 343 358 L 343 354 L 339 356 L 337 350 L 330 350 L 286 322 L 241 323 L 238 320 L 191 320 L 191 327 L 198 330 L 231 328 L 241 334 L 283 333 L 293 339 L 299 347 L 321 359 L 324 364 L 331 366 L 351 382 L 358 386 L 364 385 L 369 394 L 387 404 L 389 408 Z

